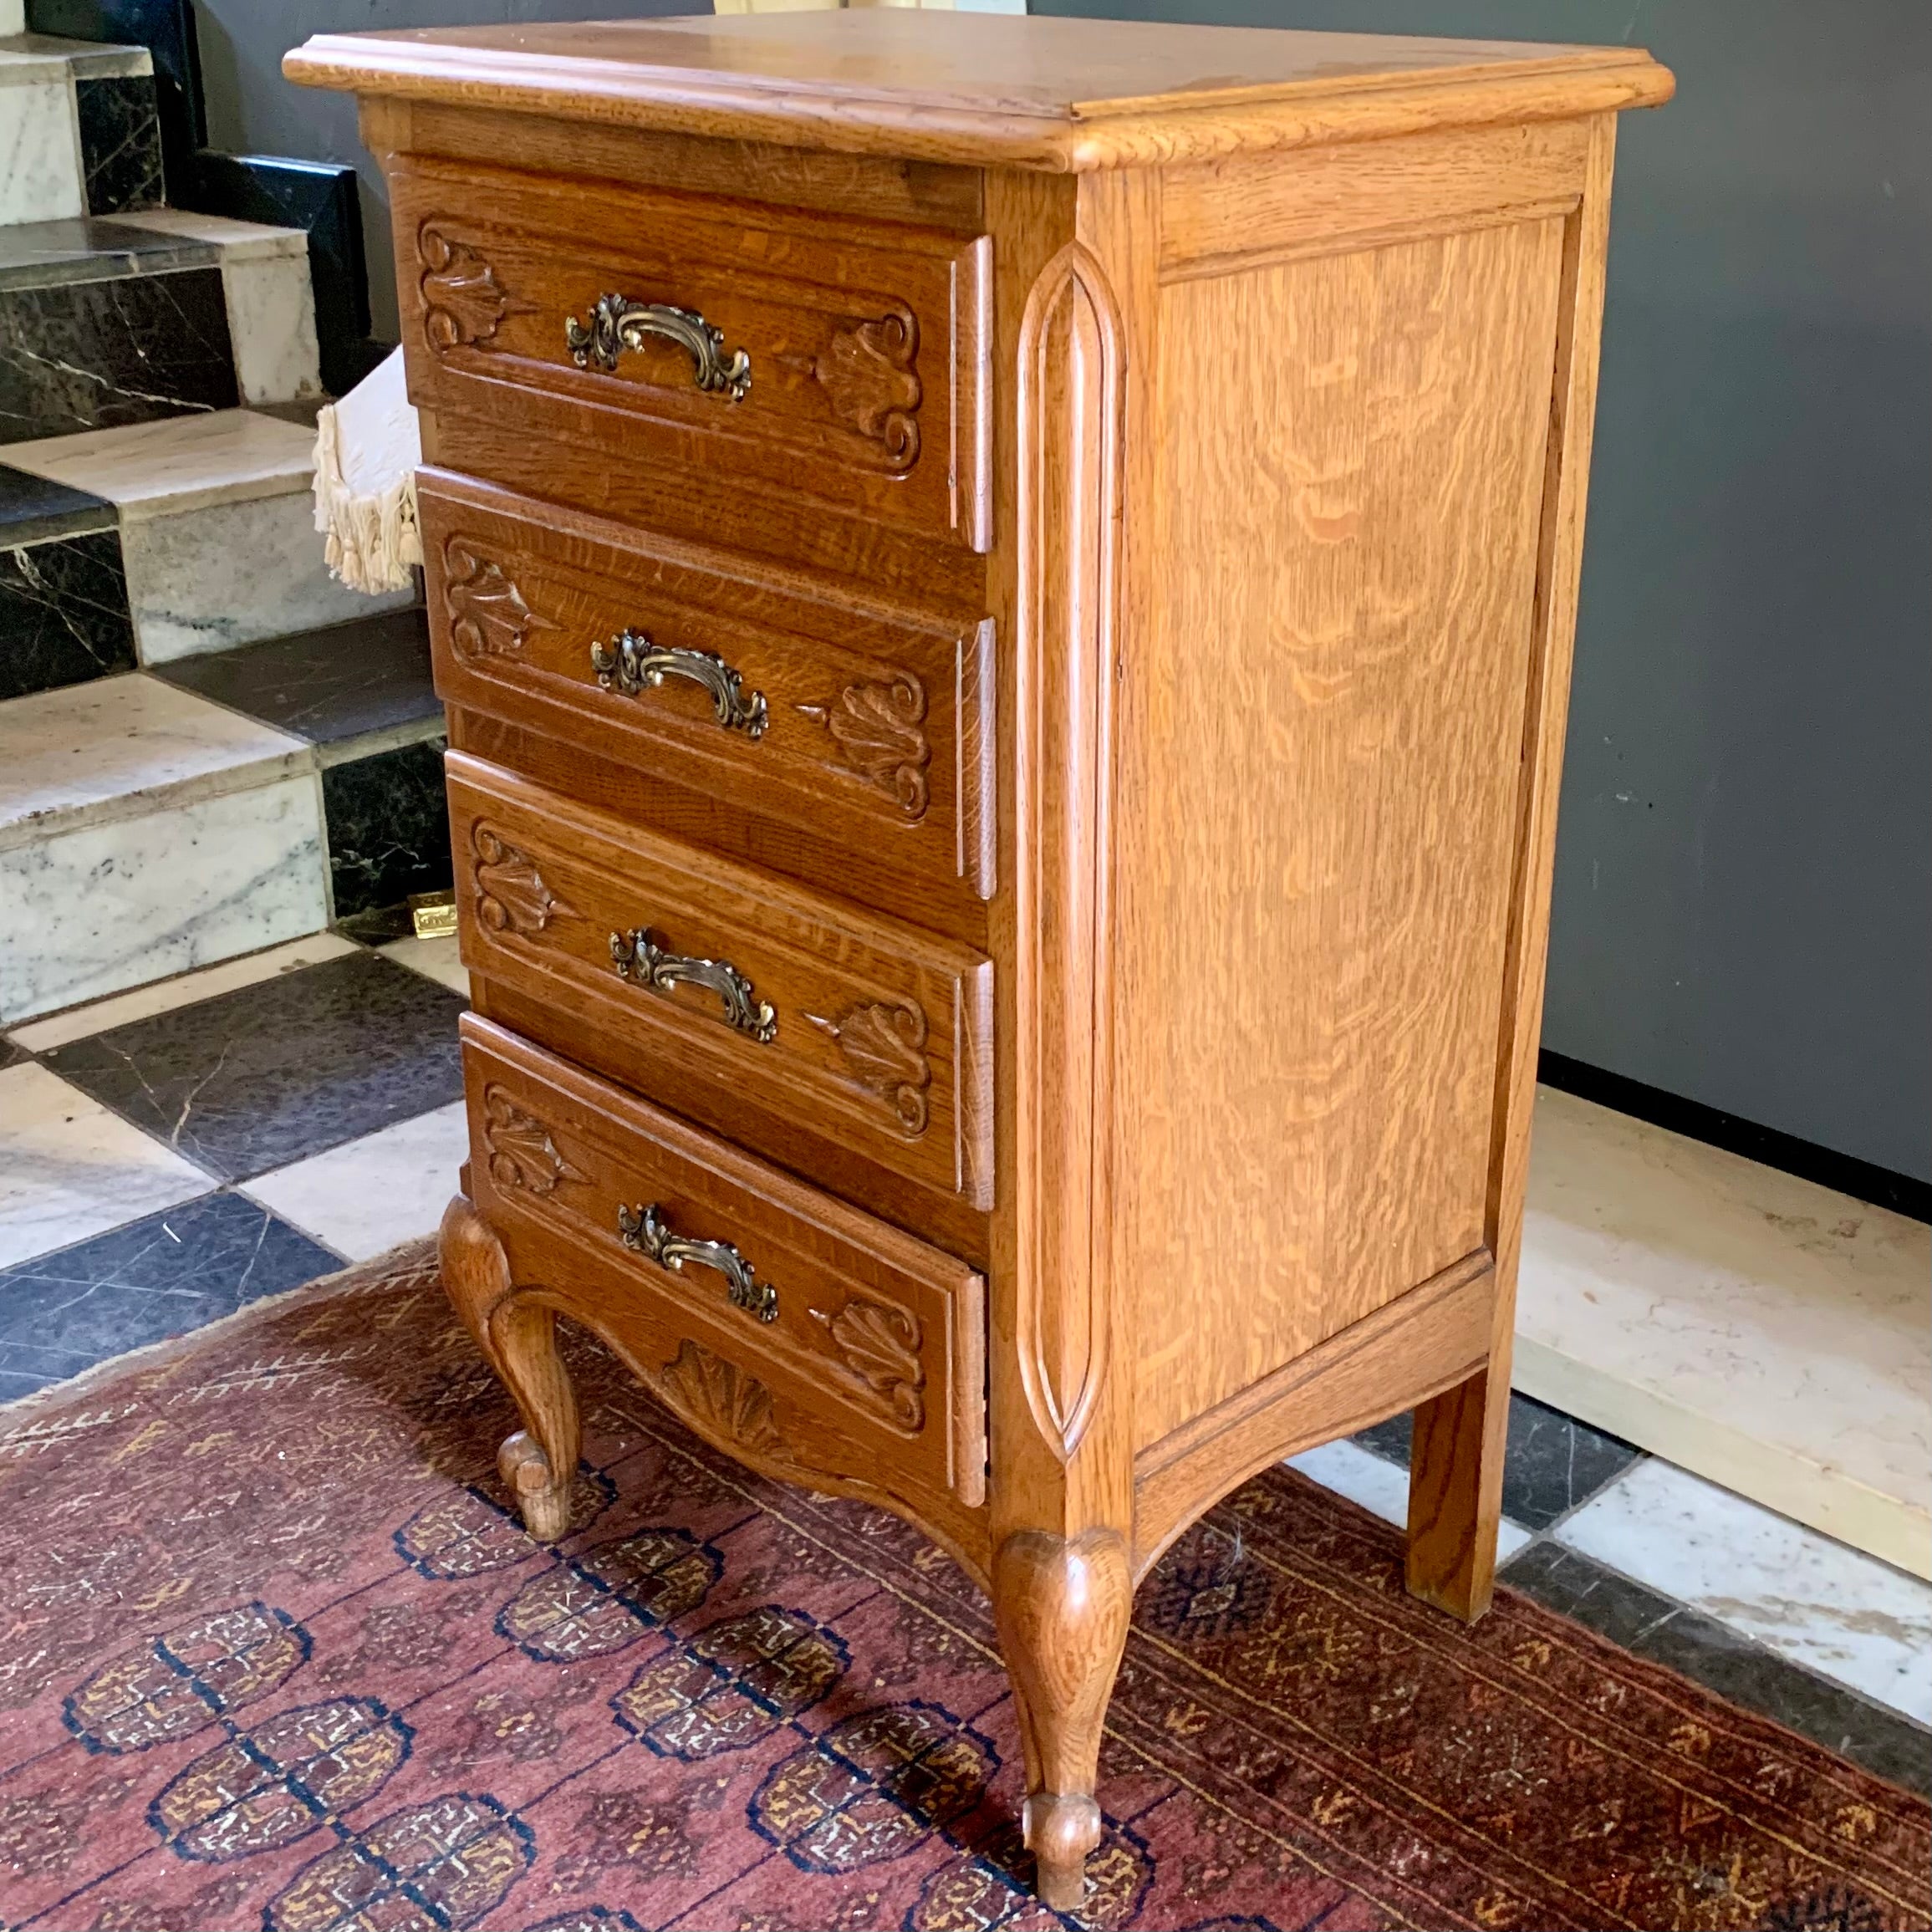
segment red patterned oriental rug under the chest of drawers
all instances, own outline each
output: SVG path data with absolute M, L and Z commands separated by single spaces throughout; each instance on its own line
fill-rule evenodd
M 421 1256 L 0 1414 L 0 1928 L 983 1932 L 1024 1889 L 976 1588 L 578 1356 L 576 1530 Z M 1932 1924 L 1926 1806 L 1275 1472 L 1142 1588 L 1086 1922 Z

